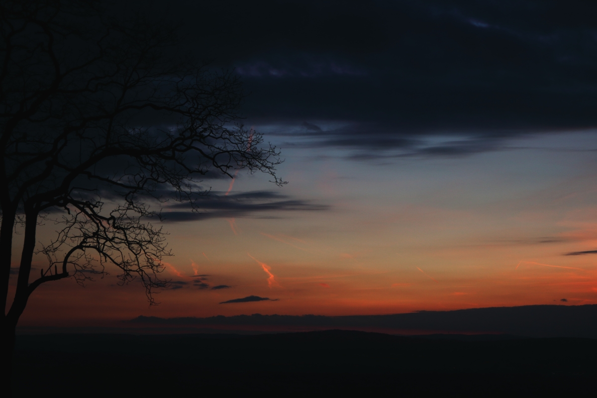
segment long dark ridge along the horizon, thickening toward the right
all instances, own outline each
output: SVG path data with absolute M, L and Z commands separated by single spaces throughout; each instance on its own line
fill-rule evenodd
M 597 338 L 597 304 L 584 306 L 521 306 L 417 311 L 405 314 L 321 316 L 238 315 L 159 318 L 139 316 L 137 326 L 271 326 L 313 329 L 383 329 L 396 334 L 510 334 L 528 337 Z

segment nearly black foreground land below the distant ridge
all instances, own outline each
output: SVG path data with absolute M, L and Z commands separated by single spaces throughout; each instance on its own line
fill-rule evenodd
M 17 337 L 14 396 L 591 396 L 597 340 L 356 331 Z

